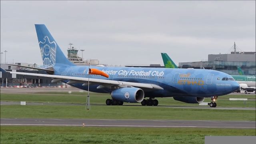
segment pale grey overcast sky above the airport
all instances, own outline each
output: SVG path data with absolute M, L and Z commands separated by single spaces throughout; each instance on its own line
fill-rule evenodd
M 46 27 L 67 55 L 69 43 L 101 64 L 176 64 L 225 54 L 234 42 L 255 51 L 251 1 L 2 1 L 6 62 L 42 64 L 34 24 Z M 79 52 L 82 57 L 82 53 Z M 3 62 L 4 62 L 4 54 Z

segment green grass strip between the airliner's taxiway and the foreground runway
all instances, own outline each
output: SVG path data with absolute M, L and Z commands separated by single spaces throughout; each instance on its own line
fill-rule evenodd
M 168 108 L 162 106 L 1 105 L 1 118 L 95 118 L 158 120 L 256 120 L 255 110 Z

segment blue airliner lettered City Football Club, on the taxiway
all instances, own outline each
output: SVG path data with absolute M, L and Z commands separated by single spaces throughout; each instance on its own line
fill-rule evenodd
M 215 70 L 76 66 L 66 58 L 44 24 L 35 24 L 35 28 L 44 65 L 41 69 L 48 74 L 10 73 L 50 77 L 52 82 L 62 81 L 82 90 L 109 93 L 112 99 L 106 99 L 106 105 L 140 102 L 143 106 L 157 106 L 156 98 L 164 97 L 201 103 L 211 97 L 210 107 L 216 107 L 218 96 L 239 87 L 232 76 Z

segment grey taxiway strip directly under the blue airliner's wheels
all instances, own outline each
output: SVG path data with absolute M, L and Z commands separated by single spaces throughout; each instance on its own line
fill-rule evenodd
M 0 105 L 20 105 L 20 102 L 0 102 Z M 66 106 L 83 106 L 85 104 L 75 103 L 52 103 L 52 102 L 26 102 L 26 105 L 66 105 Z M 106 106 L 106 104 L 91 104 L 98 106 Z M 141 106 L 141 105 L 123 105 L 123 106 Z M 189 109 L 212 109 L 212 110 L 256 110 L 256 108 L 239 108 L 239 107 L 216 107 L 210 108 L 209 106 L 157 106 L 166 108 L 189 108 Z

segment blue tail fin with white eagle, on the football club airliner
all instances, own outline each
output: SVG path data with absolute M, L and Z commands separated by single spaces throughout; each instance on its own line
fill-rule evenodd
M 35 24 L 35 27 L 44 68 L 53 67 L 56 64 L 74 66 L 63 54 L 46 26 Z

